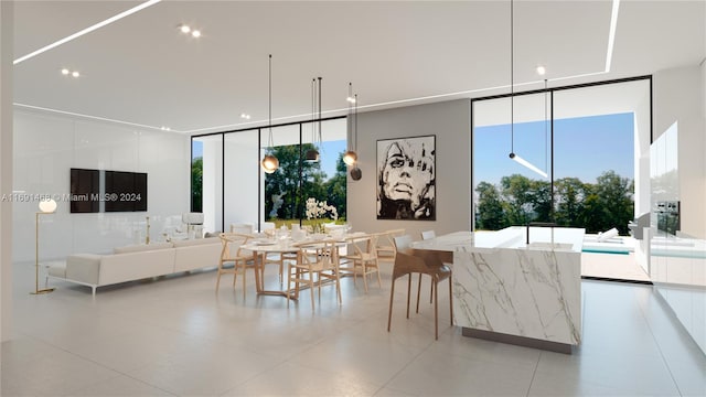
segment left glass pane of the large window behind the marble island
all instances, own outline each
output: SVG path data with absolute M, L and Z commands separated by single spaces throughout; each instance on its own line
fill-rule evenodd
M 544 95 L 515 97 L 512 114 L 510 98 L 475 104 L 477 229 L 552 221 L 550 136 L 549 122 L 544 119 Z

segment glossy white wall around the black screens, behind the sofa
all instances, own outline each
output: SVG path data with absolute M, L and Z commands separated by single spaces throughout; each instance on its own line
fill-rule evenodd
M 55 195 L 55 214 L 41 216 L 40 260 L 75 253 L 107 253 L 116 246 L 145 240 L 164 227 L 181 226 L 189 211 L 189 137 L 120 125 L 26 110 L 14 111 L 13 191 Z M 148 211 L 71 214 L 69 169 L 101 169 L 148 173 Z M 13 205 L 13 260 L 34 260 L 36 201 Z

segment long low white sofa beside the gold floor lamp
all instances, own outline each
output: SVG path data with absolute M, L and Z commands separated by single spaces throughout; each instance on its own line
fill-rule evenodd
M 217 237 L 175 240 L 115 248 L 113 254 L 76 254 L 66 264 L 50 265 L 47 278 L 96 288 L 181 271 L 216 267 L 221 259 Z

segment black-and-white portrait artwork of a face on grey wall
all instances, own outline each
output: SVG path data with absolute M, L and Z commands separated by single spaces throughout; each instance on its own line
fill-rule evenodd
M 436 221 L 436 136 L 377 141 L 377 218 Z

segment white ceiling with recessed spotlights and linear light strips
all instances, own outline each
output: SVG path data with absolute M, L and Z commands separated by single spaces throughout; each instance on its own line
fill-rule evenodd
M 15 58 L 140 1 L 15 1 Z M 14 103 L 173 131 L 310 118 L 509 93 L 509 0 L 176 1 L 132 15 L 14 66 Z M 706 0 L 622 0 L 606 72 L 612 1 L 514 2 L 514 90 L 651 74 L 706 56 Z M 188 23 L 203 36 L 180 34 Z M 62 76 L 62 67 L 81 78 Z M 578 76 L 578 77 L 573 77 Z M 252 115 L 246 124 L 242 112 Z

